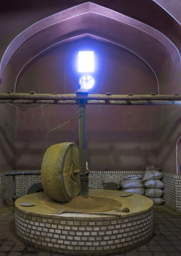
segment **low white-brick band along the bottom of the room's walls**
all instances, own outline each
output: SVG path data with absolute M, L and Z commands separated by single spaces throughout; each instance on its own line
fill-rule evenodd
M 26 170 L 27 171 L 27 170 Z M 163 172 L 164 173 L 164 172 Z M 89 188 L 103 189 L 103 179 L 105 176 L 123 180 L 129 175 L 140 175 L 143 177 L 144 171 L 91 171 L 89 175 Z M 164 173 L 162 181 L 165 183 L 163 198 L 165 204 L 176 211 L 181 212 L 181 175 Z M 26 195 L 27 190 L 34 183 L 41 182 L 41 176 L 16 176 L 16 194 Z M 0 207 L 9 201 L 13 194 L 12 176 L 0 174 Z

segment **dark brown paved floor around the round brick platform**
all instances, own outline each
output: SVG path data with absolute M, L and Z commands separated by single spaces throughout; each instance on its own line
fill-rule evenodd
M 31 248 L 15 236 L 14 209 L 11 204 L 0 208 L 0 256 L 61 256 Z M 130 251 L 114 256 L 181 256 L 181 214 L 165 205 L 154 206 L 154 236 Z M 63 256 L 63 255 L 62 255 Z

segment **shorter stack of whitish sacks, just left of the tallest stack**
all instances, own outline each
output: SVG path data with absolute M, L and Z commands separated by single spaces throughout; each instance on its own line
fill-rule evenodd
M 122 187 L 121 191 L 144 195 L 145 194 L 144 182 L 140 178 L 141 176 L 132 175 L 132 176 L 126 177 L 124 180 L 121 180 L 120 181 L 120 185 Z

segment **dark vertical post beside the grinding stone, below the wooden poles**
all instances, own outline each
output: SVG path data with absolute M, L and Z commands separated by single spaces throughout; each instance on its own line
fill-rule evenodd
M 88 198 L 87 171 L 87 138 L 86 138 L 86 104 L 85 100 L 78 100 L 79 116 L 79 168 L 81 176 L 81 196 Z

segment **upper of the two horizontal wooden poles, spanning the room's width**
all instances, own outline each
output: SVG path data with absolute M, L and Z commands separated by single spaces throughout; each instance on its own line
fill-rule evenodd
M 104 101 L 180 101 L 180 95 L 105 95 L 105 94 L 30 94 L 30 93 L 0 93 L 0 99 L 19 99 L 19 100 L 104 100 Z

